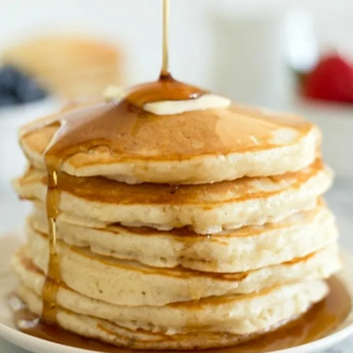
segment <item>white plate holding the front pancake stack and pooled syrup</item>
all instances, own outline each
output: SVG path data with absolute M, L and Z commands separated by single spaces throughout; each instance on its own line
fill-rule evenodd
M 9 272 L 10 255 L 21 242 L 20 238 L 13 236 L 0 237 L 1 263 L 0 263 L 0 337 L 13 343 L 14 345 L 24 348 L 33 353 L 93 353 L 84 349 L 63 346 L 57 343 L 45 341 L 36 337 L 29 336 L 18 331 L 12 324 L 12 313 L 6 304 L 6 295 L 10 293 L 16 284 L 15 278 Z M 351 293 L 353 304 L 353 256 L 343 256 L 345 271 L 338 277 L 345 284 Z M 328 349 L 353 333 L 353 310 L 346 321 L 331 335 L 311 342 L 309 344 L 294 347 L 286 350 L 276 351 L 273 353 L 318 353 Z

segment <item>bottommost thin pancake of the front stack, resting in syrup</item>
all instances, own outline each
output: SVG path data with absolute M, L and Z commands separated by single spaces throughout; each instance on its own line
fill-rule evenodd
M 30 310 L 40 315 L 41 299 L 26 290 L 25 287 L 20 287 L 18 292 L 25 303 L 28 304 Z M 308 308 L 309 307 L 307 307 L 306 310 Z M 298 312 L 297 316 L 288 318 L 285 321 L 273 323 L 273 325 L 268 326 L 266 329 L 261 329 L 249 334 L 195 331 L 188 334 L 167 335 L 151 331 L 131 330 L 97 317 L 70 312 L 62 307 L 59 307 L 57 310 L 57 324 L 80 336 L 93 338 L 117 347 L 137 350 L 193 350 L 229 347 L 247 342 L 287 324 L 289 321 L 303 314 L 306 310 Z

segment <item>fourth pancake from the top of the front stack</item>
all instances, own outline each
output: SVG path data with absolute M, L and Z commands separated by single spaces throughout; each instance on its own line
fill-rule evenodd
M 49 239 L 27 227 L 25 254 L 47 272 Z M 327 278 L 341 267 L 335 243 L 305 257 L 233 274 L 155 268 L 94 254 L 57 242 L 62 280 L 77 292 L 108 303 L 162 306 L 211 296 L 257 292 L 282 283 Z

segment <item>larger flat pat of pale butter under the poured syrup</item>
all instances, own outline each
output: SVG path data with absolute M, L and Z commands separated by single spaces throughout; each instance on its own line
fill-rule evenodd
M 155 115 L 175 115 L 195 110 L 227 108 L 231 104 L 228 98 L 206 94 L 200 98 L 186 101 L 159 101 L 147 103 L 144 110 Z

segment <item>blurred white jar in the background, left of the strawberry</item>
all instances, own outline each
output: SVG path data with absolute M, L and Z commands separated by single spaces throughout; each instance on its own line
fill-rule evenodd
M 234 101 L 277 106 L 289 88 L 283 11 L 210 17 L 211 87 Z

